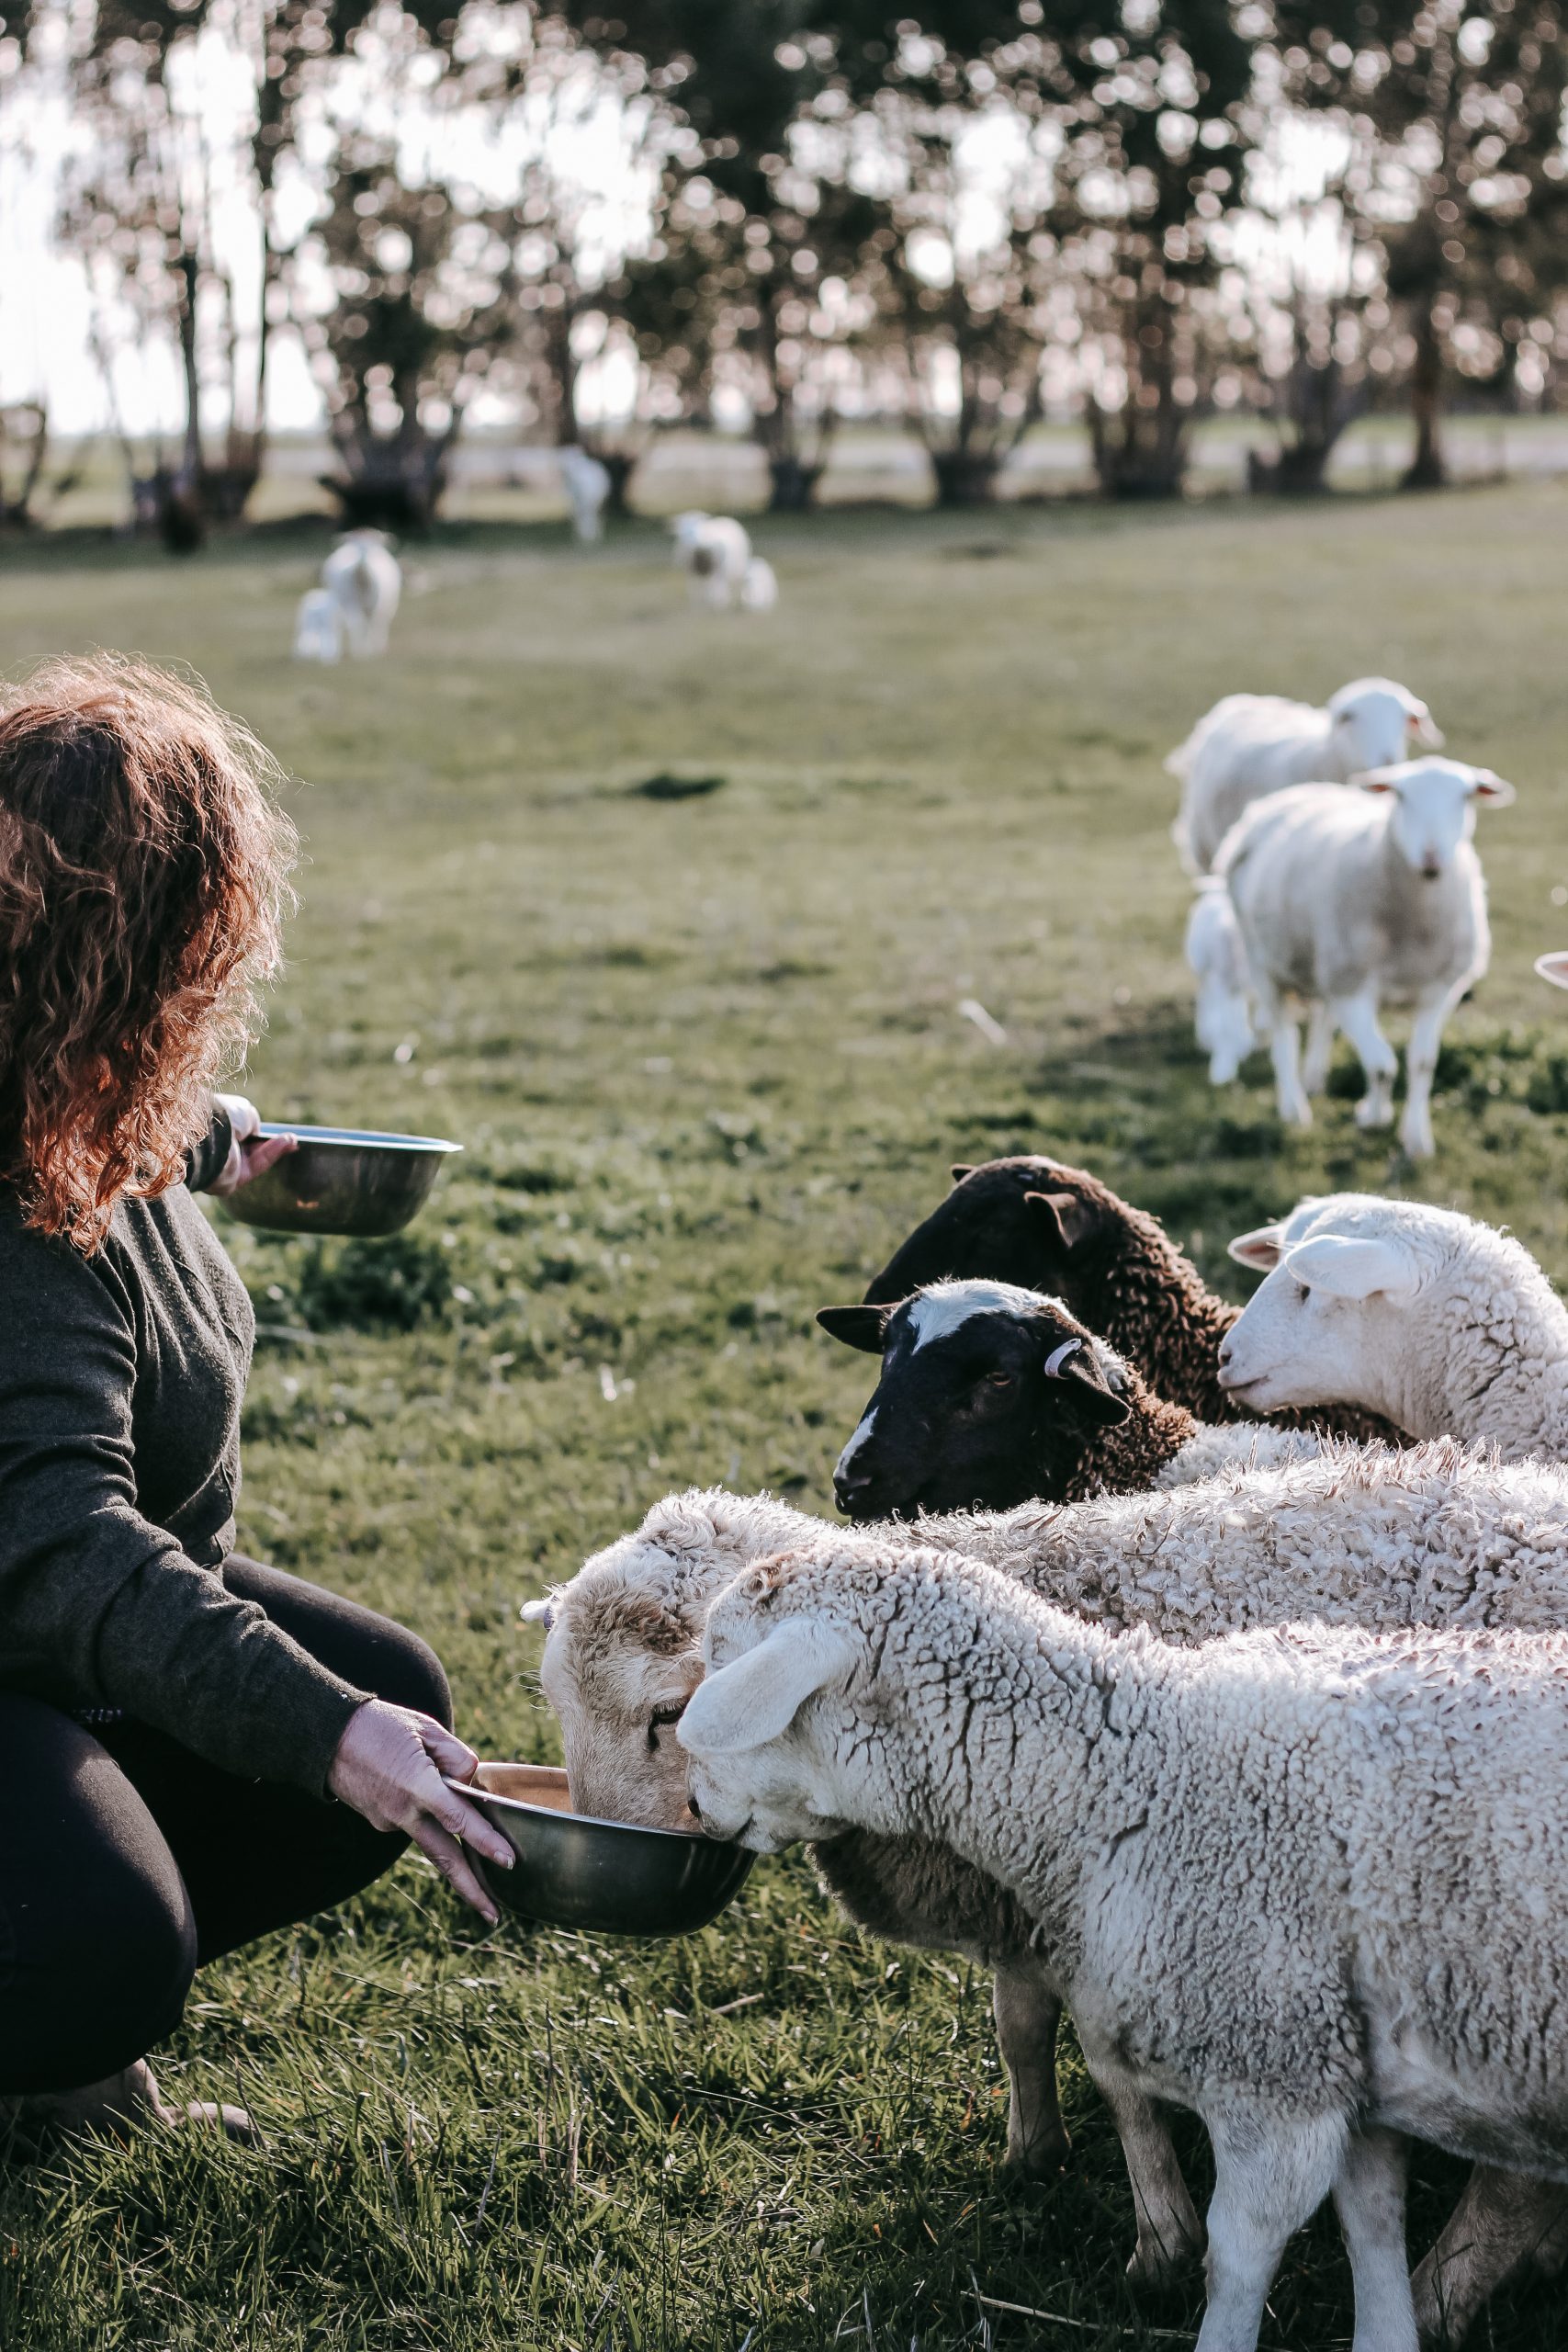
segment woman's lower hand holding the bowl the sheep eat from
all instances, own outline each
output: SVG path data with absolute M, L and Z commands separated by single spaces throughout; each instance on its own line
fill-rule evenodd
M 473 1748 L 444 1731 L 433 1715 L 367 1698 L 348 1717 L 327 1788 L 341 1804 L 364 1813 L 371 1830 L 402 1830 L 411 1837 L 463 1900 L 494 1926 L 496 1905 L 473 1875 L 463 1846 L 473 1846 L 501 1870 L 512 1867 L 515 1853 L 477 1804 L 468 1804 L 442 1780 L 442 1773 L 473 1780 L 477 1769 Z

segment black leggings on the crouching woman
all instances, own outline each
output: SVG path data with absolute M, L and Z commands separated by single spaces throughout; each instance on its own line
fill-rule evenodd
M 223 1583 L 362 1691 L 451 1724 L 435 1651 L 237 1552 Z M 0 2093 L 73 2091 L 179 2025 L 207 1959 L 369 1886 L 407 1839 L 129 1719 L 0 1693 Z

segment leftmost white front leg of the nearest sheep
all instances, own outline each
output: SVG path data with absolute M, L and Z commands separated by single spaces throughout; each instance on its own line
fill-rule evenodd
M 1258 2352 L 1262 2307 L 1286 2244 L 1340 2178 L 1345 2122 L 1338 2114 L 1288 2122 L 1258 2107 L 1211 2112 L 1204 2122 L 1213 2140 L 1215 2190 L 1208 2206 L 1208 2310 L 1194 2352 Z M 1366 2352 L 1361 2331 L 1356 2340 Z

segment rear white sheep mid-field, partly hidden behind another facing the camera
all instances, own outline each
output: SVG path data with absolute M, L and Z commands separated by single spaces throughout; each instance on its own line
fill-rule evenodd
M 1356 677 L 1314 703 L 1281 694 L 1227 694 L 1166 760 L 1182 779 L 1171 837 L 1192 875 L 1206 875 L 1244 809 L 1291 783 L 1349 783 L 1394 767 L 1415 743 L 1441 750 L 1427 706 L 1392 677 Z

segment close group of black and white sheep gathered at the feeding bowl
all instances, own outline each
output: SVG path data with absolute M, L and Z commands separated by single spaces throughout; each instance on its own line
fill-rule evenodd
M 1131 2277 L 1206 2244 L 1199 2352 L 1253 2352 L 1324 2197 L 1354 2352 L 1458 2345 L 1568 2260 L 1568 1308 L 1335 1195 L 1232 1244 L 1239 1312 L 1084 1169 L 954 1178 L 818 1317 L 879 1357 L 851 1526 L 677 1494 L 524 1609 L 574 1802 L 806 1839 L 856 1922 L 990 1966 L 1032 2173 L 1070 2006 Z M 1408 2138 L 1474 2161 L 1413 2279 Z

